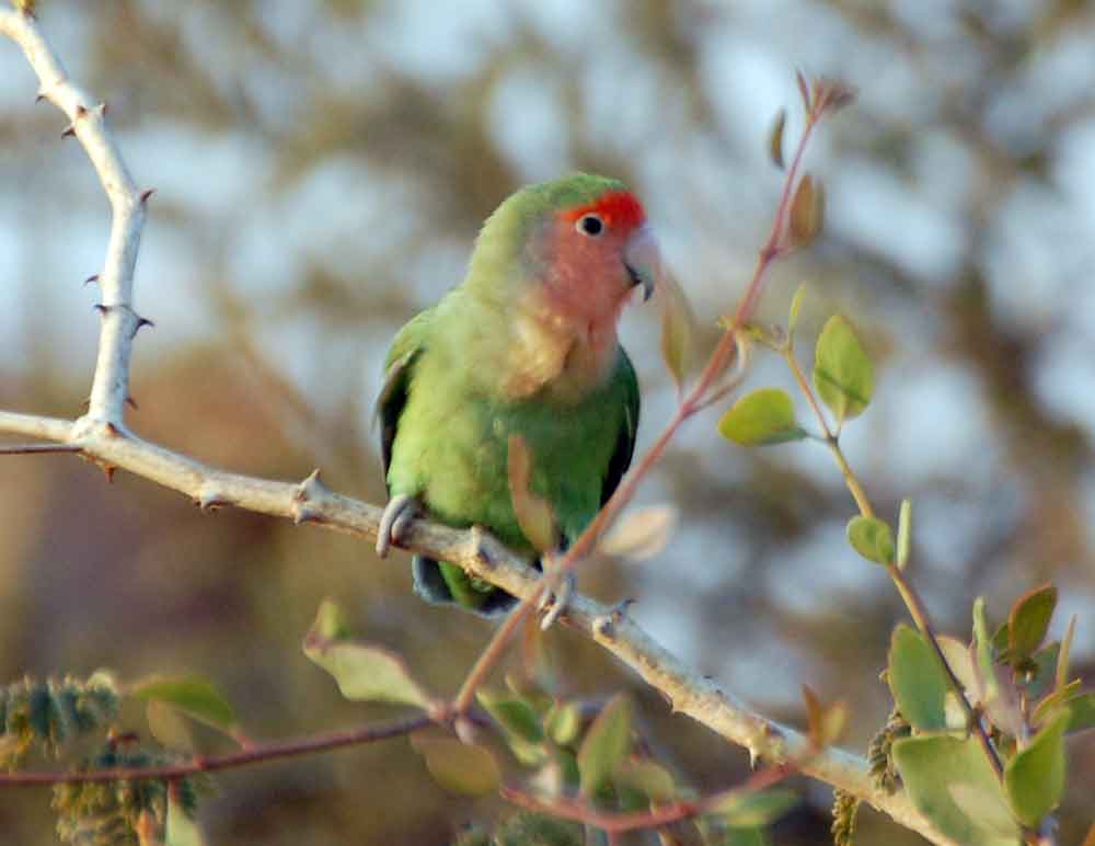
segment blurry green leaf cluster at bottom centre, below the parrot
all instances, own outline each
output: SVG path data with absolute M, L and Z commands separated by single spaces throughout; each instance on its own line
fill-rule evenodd
M 654 533 L 661 534 L 659 529 Z M 619 540 L 633 553 L 632 531 Z M 650 533 L 637 547 L 650 546 Z M 703 811 L 690 825 L 693 839 L 705 844 L 761 843 L 761 830 L 798 801 L 787 790 L 729 791 L 718 801 L 695 804 L 693 791 L 681 786 L 669 768 L 637 743 L 631 700 L 616 695 L 591 709 L 553 693 L 554 674 L 539 626 L 527 628 L 526 665 L 505 677 L 505 687 L 481 687 L 476 700 L 483 717 L 469 721 L 457 716 L 457 736 L 440 727 L 412 735 L 413 748 L 443 789 L 481 797 L 502 789 L 505 769 L 517 769 L 527 792 L 545 808 L 565 804 L 592 813 L 643 813 L 666 805 Z M 326 601 L 304 638 L 304 653 L 327 671 L 342 694 L 358 701 L 385 701 L 422 708 L 439 722 L 451 714 L 430 696 L 399 655 L 350 637 L 338 607 Z M 811 710 L 819 745 L 831 741 L 843 724 L 839 708 Z M 492 729 L 489 735 L 480 727 Z M 499 743 L 495 742 L 500 742 Z M 522 788 L 522 792 L 526 788 Z M 682 813 L 690 816 L 692 812 Z M 581 825 L 541 813 L 519 812 L 503 820 L 493 833 L 474 828 L 460 835 L 461 844 L 580 844 Z

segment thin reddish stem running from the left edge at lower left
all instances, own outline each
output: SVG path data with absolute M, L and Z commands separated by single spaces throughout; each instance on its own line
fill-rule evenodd
M 346 746 L 358 746 L 364 743 L 374 743 L 390 738 L 399 738 L 404 734 L 425 729 L 434 723 L 430 717 L 425 714 L 408 717 L 403 720 L 384 723 L 382 725 L 364 725 L 358 729 L 346 731 L 332 731 L 322 734 L 313 734 L 307 738 L 293 738 L 290 740 L 273 741 L 266 744 L 250 746 L 239 752 L 230 752 L 226 755 L 214 757 L 195 757 L 185 764 L 169 764 L 159 767 L 142 767 L 139 769 L 95 769 L 87 773 L 0 773 L 0 787 L 32 787 L 42 785 L 61 785 L 77 782 L 102 782 L 117 781 L 120 779 L 175 779 L 184 776 L 192 776 L 197 773 L 216 773 L 223 769 L 239 769 L 268 761 L 296 757 L 298 755 L 309 755 L 318 752 L 330 752 L 331 750 L 344 748 Z

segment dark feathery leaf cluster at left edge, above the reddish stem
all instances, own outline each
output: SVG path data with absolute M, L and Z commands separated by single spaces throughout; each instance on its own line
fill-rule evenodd
M 57 757 L 71 739 L 108 722 L 118 691 L 108 676 L 23 678 L 0 688 L 0 766 L 16 769 L 35 746 Z

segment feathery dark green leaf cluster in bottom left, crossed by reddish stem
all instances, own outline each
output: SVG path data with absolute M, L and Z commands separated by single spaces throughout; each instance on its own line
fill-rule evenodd
M 80 771 L 96 769 L 142 769 L 177 763 L 161 750 L 131 748 L 107 740 L 94 756 L 82 762 Z M 153 779 L 122 779 L 108 782 L 73 782 L 54 787 L 51 807 L 57 812 L 57 835 L 79 846 L 140 844 L 142 832 L 168 827 L 169 808 L 193 818 L 198 787 L 191 778 L 171 782 Z

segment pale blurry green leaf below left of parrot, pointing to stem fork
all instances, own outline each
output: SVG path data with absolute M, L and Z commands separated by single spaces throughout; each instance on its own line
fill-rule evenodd
M 322 615 L 321 608 L 321 615 Z M 429 696 L 394 652 L 353 640 L 324 638 L 316 624 L 304 637 L 304 654 L 334 676 L 347 699 L 429 707 Z

